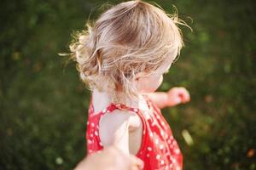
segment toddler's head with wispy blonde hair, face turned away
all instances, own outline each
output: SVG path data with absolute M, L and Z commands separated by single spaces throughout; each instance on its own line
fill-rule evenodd
M 70 45 L 81 80 L 90 90 L 111 94 L 114 102 L 136 98 L 146 77 L 151 75 L 153 82 L 160 83 L 161 71 L 179 55 L 183 47 L 179 23 L 176 15 L 142 1 L 109 8 Z

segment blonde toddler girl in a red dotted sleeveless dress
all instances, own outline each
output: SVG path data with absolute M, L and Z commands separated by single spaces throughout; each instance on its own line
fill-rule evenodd
M 92 95 L 88 154 L 113 145 L 143 169 L 182 169 L 183 156 L 160 109 L 189 101 L 185 88 L 155 90 L 183 47 L 176 15 L 143 1 L 119 3 L 70 45 Z M 108 166 L 108 165 L 106 165 Z

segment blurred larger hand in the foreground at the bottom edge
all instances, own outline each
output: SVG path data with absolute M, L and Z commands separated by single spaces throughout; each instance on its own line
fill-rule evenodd
M 136 156 L 127 156 L 113 146 L 105 148 L 100 153 L 86 157 L 74 170 L 139 170 L 143 161 Z

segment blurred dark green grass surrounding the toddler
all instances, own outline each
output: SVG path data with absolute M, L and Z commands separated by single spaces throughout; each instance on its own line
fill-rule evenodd
M 184 169 L 256 169 L 255 1 L 154 2 L 168 13 L 174 4 L 194 30 L 181 27 L 186 47 L 160 87 L 191 95 L 189 104 L 162 111 Z M 90 92 L 74 63 L 57 54 L 103 3 L 1 2 L 0 169 L 72 169 L 85 155 Z

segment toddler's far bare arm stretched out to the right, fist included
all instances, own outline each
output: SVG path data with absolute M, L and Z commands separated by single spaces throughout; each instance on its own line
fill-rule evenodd
M 168 92 L 154 92 L 147 95 L 160 109 L 190 101 L 190 95 L 186 88 L 171 88 Z

